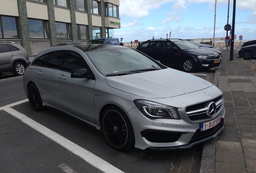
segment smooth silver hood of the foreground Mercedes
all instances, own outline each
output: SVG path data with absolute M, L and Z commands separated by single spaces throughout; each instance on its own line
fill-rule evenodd
M 106 77 L 109 87 L 145 98 L 167 98 L 192 93 L 213 84 L 172 68 Z

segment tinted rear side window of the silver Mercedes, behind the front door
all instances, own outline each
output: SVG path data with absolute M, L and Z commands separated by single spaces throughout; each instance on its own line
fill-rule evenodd
M 62 51 L 50 52 L 48 54 L 45 54 L 37 58 L 32 65 L 44 66 L 44 67 L 50 67 L 50 68 L 59 68 L 62 54 L 63 54 Z

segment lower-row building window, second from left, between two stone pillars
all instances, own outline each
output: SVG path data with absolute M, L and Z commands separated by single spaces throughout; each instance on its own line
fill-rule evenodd
M 43 20 L 28 19 L 30 38 L 48 38 L 47 22 Z

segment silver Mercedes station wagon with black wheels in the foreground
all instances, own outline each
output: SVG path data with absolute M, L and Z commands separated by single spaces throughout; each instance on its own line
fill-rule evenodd
M 32 109 L 68 113 L 101 130 L 118 151 L 190 148 L 225 129 L 215 85 L 124 46 L 42 50 L 23 85 Z

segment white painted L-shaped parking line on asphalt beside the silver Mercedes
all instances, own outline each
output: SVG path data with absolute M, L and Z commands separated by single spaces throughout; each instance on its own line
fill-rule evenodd
M 103 159 L 97 157 L 93 153 L 91 153 L 91 152 L 87 151 L 86 149 L 76 145 L 75 143 L 73 143 L 72 141 L 69 141 L 68 139 L 66 139 L 64 137 L 62 137 L 58 133 L 55 133 L 54 131 L 48 129 L 47 127 L 45 127 L 45 126 L 37 123 L 36 121 L 30 119 L 26 115 L 24 115 L 22 113 L 19 113 L 18 111 L 11 108 L 12 106 L 19 105 L 19 104 L 25 103 L 27 101 L 28 101 L 28 99 L 23 100 L 23 101 L 19 101 L 17 103 L 13 103 L 13 104 L 10 104 L 10 105 L 6 105 L 4 107 L 0 107 L 0 110 L 4 110 L 7 113 L 9 113 L 10 115 L 12 115 L 12 116 L 16 117 L 17 119 L 21 120 L 23 123 L 29 125 L 30 127 L 35 129 L 36 131 L 38 131 L 38 132 L 42 133 L 43 135 L 45 135 L 46 137 L 52 139 L 56 143 L 60 144 L 62 147 L 68 149 L 69 151 L 71 151 L 75 155 L 81 157 L 87 163 L 93 165 L 94 167 L 103 171 L 104 173 L 124 173 L 120 169 L 114 167 L 113 165 L 110 165 L 109 163 L 107 163 Z

